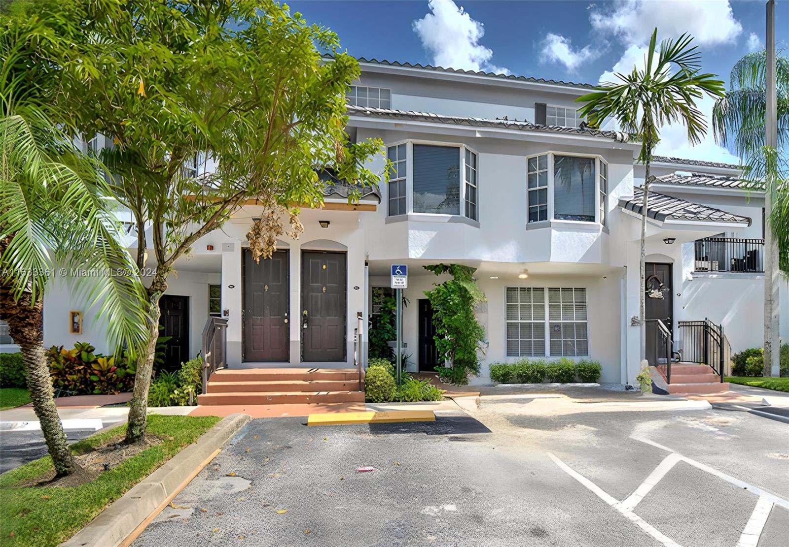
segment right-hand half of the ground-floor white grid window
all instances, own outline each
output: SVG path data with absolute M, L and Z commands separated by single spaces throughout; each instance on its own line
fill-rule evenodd
M 585 288 L 548 288 L 552 357 L 589 355 Z

